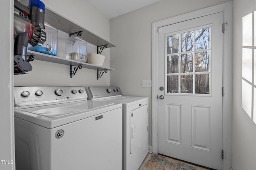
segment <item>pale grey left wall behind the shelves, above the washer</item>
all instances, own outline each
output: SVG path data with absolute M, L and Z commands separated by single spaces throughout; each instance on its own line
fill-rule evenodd
M 44 2 L 46 8 L 50 8 L 65 18 L 72 20 L 97 36 L 109 40 L 109 19 L 89 4 L 87 0 L 42 0 L 42 2 Z M 68 34 L 66 36 L 68 38 Z M 65 41 L 64 38 L 63 41 Z M 89 53 L 97 53 L 96 50 L 95 45 L 88 45 Z M 106 57 L 103 67 L 109 67 L 109 53 L 109 48 L 102 51 L 102 55 Z M 70 78 L 69 65 L 38 60 L 30 61 L 30 63 L 32 71 L 26 75 L 14 75 L 14 86 L 71 85 L 88 87 L 107 86 L 110 84 L 110 71 L 97 80 L 96 70 L 82 68 Z

